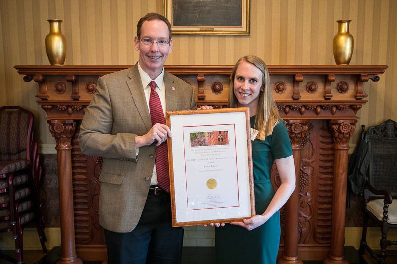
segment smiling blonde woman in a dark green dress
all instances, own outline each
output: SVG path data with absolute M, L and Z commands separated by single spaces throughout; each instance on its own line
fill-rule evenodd
M 275 264 L 280 242 L 279 209 L 295 189 L 295 167 L 288 131 L 278 114 L 262 59 L 244 56 L 237 61 L 230 78 L 228 107 L 249 107 L 251 127 L 258 131 L 251 141 L 257 215 L 216 228 L 216 261 Z M 276 193 L 270 182 L 274 161 L 281 180 Z

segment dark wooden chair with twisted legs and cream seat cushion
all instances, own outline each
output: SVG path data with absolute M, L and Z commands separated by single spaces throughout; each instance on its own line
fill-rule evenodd
M 368 143 L 369 173 L 364 189 L 364 222 L 360 242 L 360 255 L 367 250 L 378 263 L 386 263 L 385 258 L 396 256 L 387 253 L 386 248 L 397 245 L 397 241 L 387 239 L 389 230 L 397 229 L 397 123 L 392 120 L 370 127 L 365 135 Z M 381 252 L 375 253 L 367 244 L 368 218 L 381 228 Z

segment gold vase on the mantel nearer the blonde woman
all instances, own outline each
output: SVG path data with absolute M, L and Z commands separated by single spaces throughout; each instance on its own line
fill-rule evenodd
M 333 57 L 337 65 L 349 65 L 353 55 L 353 36 L 349 32 L 351 20 L 337 20 L 338 33 L 333 37 Z

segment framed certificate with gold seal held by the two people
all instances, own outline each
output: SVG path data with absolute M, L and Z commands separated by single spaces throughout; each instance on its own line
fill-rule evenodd
M 248 108 L 166 112 L 173 226 L 255 215 Z

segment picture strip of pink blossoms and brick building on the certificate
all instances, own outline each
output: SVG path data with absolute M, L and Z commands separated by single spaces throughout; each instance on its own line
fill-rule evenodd
M 190 146 L 229 145 L 229 131 L 207 131 L 190 133 Z

